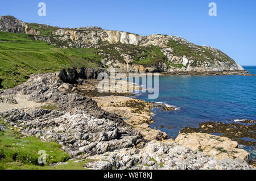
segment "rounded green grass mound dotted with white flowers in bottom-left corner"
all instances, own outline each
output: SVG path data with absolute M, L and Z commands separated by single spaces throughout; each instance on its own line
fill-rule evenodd
M 43 142 L 35 137 L 22 137 L 19 132 L 5 129 L 0 132 L 0 169 L 5 165 L 39 166 L 39 150 L 46 151 L 46 165 L 50 163 L 65 162 L 70 159 L 68 153 L 61 150 L 56 142 Z

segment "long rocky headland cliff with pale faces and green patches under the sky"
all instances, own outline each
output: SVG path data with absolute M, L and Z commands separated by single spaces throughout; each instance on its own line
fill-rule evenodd
M 93 48 L 102 57 L 104 68 L 119 71 L 209 73 L 244 71 L 218 49 L 198 46 L 176 36 L 142 36 L 99 27 L 59 28 L 47 36 L 12 16 L 0 16 L 0 31 L 28 33 L 35 40 L 62 48 Z

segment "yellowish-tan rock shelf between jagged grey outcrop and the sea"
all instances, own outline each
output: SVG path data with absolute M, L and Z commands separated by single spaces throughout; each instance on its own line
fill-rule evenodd
M 101 96 L 92 99 L 103 110 L 124 117 L 125 122 L 137 129 L 147 141 L 167 138 L 166 133 L 150 128 L 150 124 L 153 123 L 150 110 L 154 107 L 154 103 L 124 96 Z

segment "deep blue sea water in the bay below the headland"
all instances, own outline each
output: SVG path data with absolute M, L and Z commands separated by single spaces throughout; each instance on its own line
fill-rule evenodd
M 256 67 L 244 67 L 256 74 Z M 177 111 L 153 108 L 155 123 L 168 136 L 176 137 L 184 127 L 198 127 L 205 121 L 232 123 L 237 119 L 256 120 L 256 77 L 241 75 L 170 75 L 159 77 L 159 98 L 137 98 L 176 106 Z M 163 128 L 159 128 L 163 125 Z M 170 128 L 167 128 L 170 127 Z

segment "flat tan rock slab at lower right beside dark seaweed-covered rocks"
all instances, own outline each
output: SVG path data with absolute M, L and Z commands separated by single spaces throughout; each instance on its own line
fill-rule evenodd
M 209 156 L 216 156 L 217 159 L 240 158 L 249 162 L 250 154 L 243 149 L 238 149 L 237 142 L 226 137 L 205 133 L 188 133 L 179 134 L 175 141 L 193 151 L 203 151 Z

